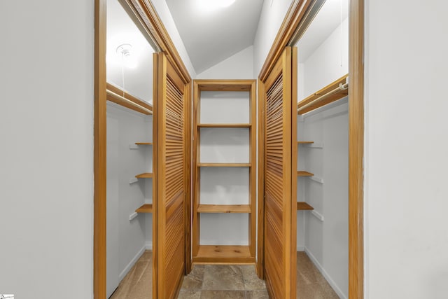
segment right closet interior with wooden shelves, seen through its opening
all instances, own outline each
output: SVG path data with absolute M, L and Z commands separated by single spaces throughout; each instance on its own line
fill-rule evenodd
M 349 1 L 321 2 L 295 44 L 297 298 L 348 298 Z M 326 281 L 304 279 L 308 260 Z

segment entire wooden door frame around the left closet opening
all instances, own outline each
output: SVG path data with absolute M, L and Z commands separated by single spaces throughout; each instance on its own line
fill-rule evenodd
M 93 218 L 93 292 L 94 299 L 106 298 L 106 1 L 94 1 L 94 218 Z M 176 71 L 191 86 L 181 56 L 176 50 L 167 29 L 158 17 L 150 1 L 120 0 L 134 13 L 134 22 L 140 29 L 148 32 L 160 51 L 167 55 Z M 191 99 L 191 88 L 186 100 Z M 190 118 L 188 113 L 188 118 Z M 188 148 L 191 134 L 188 130 Z M 190 172 L 190 159 L 186 161 L 186 172 Z M 188 180 L 190 175 L 187 176 Z M 188 183 L 190 185 L 190 183 Z M 190 211 L 191 195 L 186 195 L 186 211 Z M 157 221 L 157 213 L 153 212 L 153 223 Z M 190 217 L 186 217 L 186 272 L 191 269 L 191 253 L 189 240 Z M 157 246 L 157 236 L 153 237 L 153 248 Z

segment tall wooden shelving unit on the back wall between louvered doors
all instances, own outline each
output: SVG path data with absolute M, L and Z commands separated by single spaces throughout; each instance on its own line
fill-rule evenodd
M 200 123 L 201 92 L 249 92 L 248 123 Z M 255 80 L 195 80 L 193 106 L 193 263 L 255 263 L 255 165 L 256 165 L 256 115 Z M 245 121 L 245 120 L 244 120 Z M 229 128 L 248 130 L 248 162 L 201 162 L 201 129 Z M 238 131 L 239 132 L 239 131 Z M 225 141 L 223 141 L 225 142 Z M 218 146 L 218 145 L 217 145 Z M 248 204 L 203 204 L 200 199 L 200 176 L 203 167 L 247 167 Z M 202 245 L 200 244 L 201 214 L 248 214 L 248 245 Z

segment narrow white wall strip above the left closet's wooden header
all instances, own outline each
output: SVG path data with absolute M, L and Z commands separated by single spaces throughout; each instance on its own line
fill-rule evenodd
M 174 46 L 176 47 L 179 55 L 181 56 L 183 63 L 185 64 L 188 72 L 190 73 L 190 77 L 192 79 L 196 78 L 196 71 L 191 64 L 190 57 L 188 56 L 187 50 L 183 44 L 181 39 L 181 35 L 177 30 L 176 24 L 174 24 L 173 17 L 171 12 L 169 11 L 167 1 L 166 0 L 151 0 L 155 10 L 157 11 L 160 20 L 162 20 L 163 25 L 167 29 L 169 36 L 171 37 Z

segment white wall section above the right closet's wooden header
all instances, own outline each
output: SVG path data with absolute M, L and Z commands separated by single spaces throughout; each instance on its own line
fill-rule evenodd
M 253 74 L 258 77 L 292 0 L 264 1 L 253 41 Z

